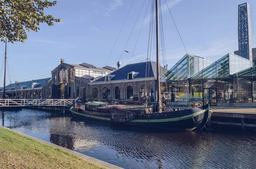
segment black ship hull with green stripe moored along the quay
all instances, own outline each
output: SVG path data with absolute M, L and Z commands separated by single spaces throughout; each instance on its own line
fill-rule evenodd
M 191 109 L 178 110 L 163 113 L 133 113 L 126 110 L 113 108 L 102 112 L 97 108 L 81 110 L 76 107 L 70 108 L 73 116 L 112 123 L 143 126 L 167 130 L 201 130 L 209 121 L 211 110 L 209 105 L 193 107 Z

